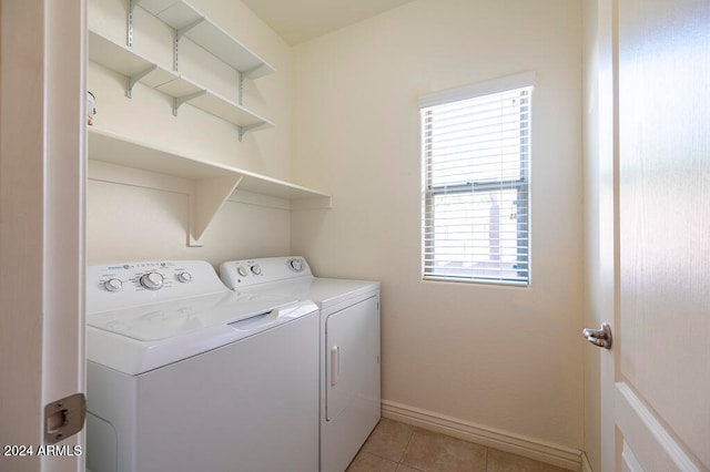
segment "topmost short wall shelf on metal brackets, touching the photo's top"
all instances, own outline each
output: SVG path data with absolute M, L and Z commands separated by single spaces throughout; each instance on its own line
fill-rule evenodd
M 190 38 L 248 79 L 276 71 L 184 0 L 131 0 L 131 10 L 136 4 L 173 28 L 176 41 L 182 35 Z

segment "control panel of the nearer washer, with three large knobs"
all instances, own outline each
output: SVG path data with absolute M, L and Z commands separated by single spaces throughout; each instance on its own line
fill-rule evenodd
M 204 260 L 120 263 L 87 267 L 87 311 L 210 295 L 226 288 Z

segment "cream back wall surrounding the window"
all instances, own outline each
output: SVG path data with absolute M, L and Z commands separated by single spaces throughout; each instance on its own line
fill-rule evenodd
M 416 0 L 295 47 L 293 64 L 293 175 L 333 208 L 293 214 L 292 252 L 382 281 L 384 411 L 579 465 L 580 2 Z M 525 71 L 532 284 L 423 283 L 418 96 Z

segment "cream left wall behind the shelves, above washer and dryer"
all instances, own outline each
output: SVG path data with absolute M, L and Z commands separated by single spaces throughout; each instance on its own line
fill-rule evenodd
M 192 105 L 172 114 L 172 99 L 138 83 L 125 96 L 126 78 L 88 64 L 88 89 L 97 98 L 94 127 L 156 147 L 286 179 L 291 177 L 292 52 L 241 1 L 191 0 L 197 10 L 262 57 L 276 73 L 245 80 L 244 104 L 276 125 L 247 133 Z M 89 27 L 125 43 L 126 0 L 90 0 Z M 133 49 L 172 69 L 172 29 L 140 7 L 134 9 Z M 203 50 L 181 40 L 180 70 L 225 98 L 237 100 L 237 74 Z M 92 148 L 89 153 L 91 156 Z M 90 161 L 87 208 L 89 264 L 144 259 L 206 259 L 287 254 L 288 203 L 235 194 L 215 215 L 202 247 L 187 247 L 187 183 L 148 172 Z

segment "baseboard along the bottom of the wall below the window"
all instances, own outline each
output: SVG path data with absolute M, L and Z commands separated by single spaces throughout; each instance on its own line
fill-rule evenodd
M 382 401 L 382 415 L 571 471 L 582 468 L 582 452 L 531 438 L 496 431 L 394 401 Z

